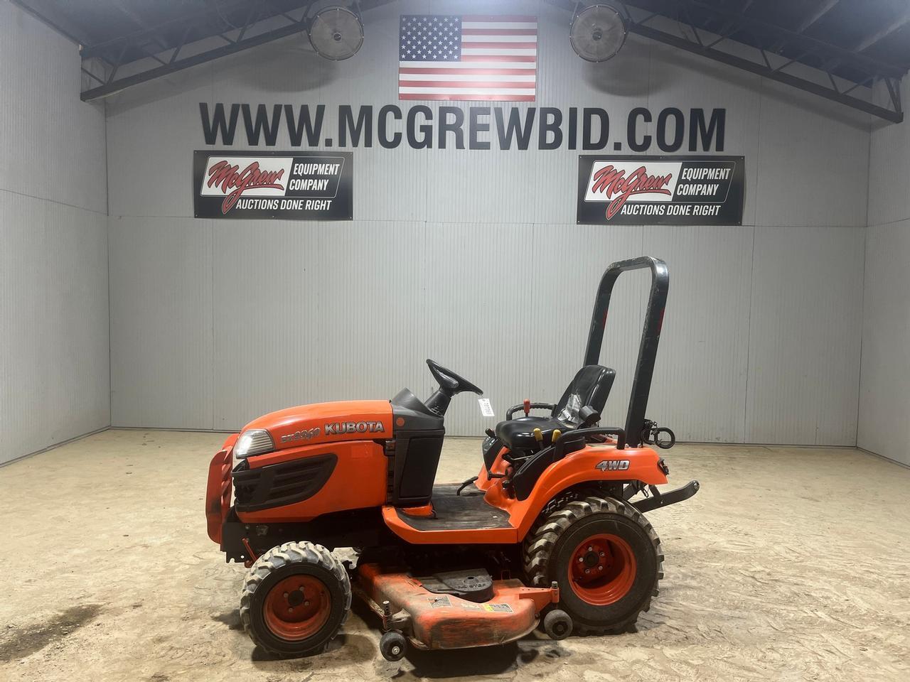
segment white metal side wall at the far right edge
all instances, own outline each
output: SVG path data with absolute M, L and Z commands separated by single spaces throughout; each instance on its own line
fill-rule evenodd
M 859 446 L 910 465 L 910 124 L 875 127 L 869 185 Z

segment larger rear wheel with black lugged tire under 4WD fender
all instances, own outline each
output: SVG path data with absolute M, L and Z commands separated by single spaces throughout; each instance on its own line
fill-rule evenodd
M 651 607 L 663 577 L 661 540 L 632 504 L 586 496 L 547 516 L 525 539 L 525 573 L 535 587 L 556 581 L 574 631 L 629 630 Z

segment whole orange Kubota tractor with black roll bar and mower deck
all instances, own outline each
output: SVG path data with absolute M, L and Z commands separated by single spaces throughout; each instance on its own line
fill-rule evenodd
M 615 377 L 598 365 L 612 287 L 641 268 L 652 286 L 626 422 L 599 426 Z M 253 641 L 319 652 L 352 597 L 376 614 L 389 660 L 538 626 L 555 639 L 632 627 L 663 577 L 643 513 L 698 491 L 692 481 L 661 493 L 669 468 L 642 445 L 652 431 L 672 445 L 645 419 L 668 286 L 650 256 L 608 267 L 584 366 L 558 402 L 524 400 L 487 429 L 480 473 L 460 485 L 435 483 L 444 418 L 452 397 L 482 392 L 432 360 L 439 388 L 426 401 L 404 389 L 292 407 L 229 436 L 209 466 L 207 527 L 227 561 L 248 567 L 240 616 Z M 356 566 L 332 554 L 339 547 L 355 549 Z

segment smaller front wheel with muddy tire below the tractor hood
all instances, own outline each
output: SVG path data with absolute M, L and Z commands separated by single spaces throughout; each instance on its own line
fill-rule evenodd
M 350 581 L 321 545 L 288 542 L 249 567 L 240 590 L 240 620 L 258 647 L 280 656 L 325 650 L 350 611 Z

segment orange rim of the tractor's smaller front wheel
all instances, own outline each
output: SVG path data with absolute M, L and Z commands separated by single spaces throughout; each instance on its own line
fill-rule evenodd
M 331 597 L 326 584 L 313 576 L 278 581 L 266 595 L 263 615 L 276 637 L 299 641 L 312 637 L 329 620 Z

